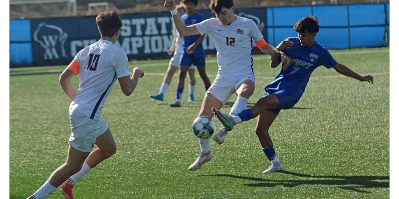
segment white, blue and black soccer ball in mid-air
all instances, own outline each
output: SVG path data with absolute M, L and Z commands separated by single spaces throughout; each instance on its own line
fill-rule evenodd
M 207 139 L 212 136 L 215 123 L 210 117 L 201 115 L 194 120 L 192 127 L 195 136 Z

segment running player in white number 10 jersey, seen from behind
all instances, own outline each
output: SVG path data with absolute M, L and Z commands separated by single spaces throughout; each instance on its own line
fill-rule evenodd
M 44 199 L 57 187 L 66 199 L 73 199 L 72 187 L 93 167 L 116 152 L 116 145 L 101 111 L 112 86 L 118 79 L 122 93 L 129 96 L 135 90 L 141 68 L 130 76 L 126 52 L 115 46 L 122 21 L 115 11 L 101 12 L 96 17 L 100 40 L 80 50 L 59 81 L 72 100 L 69 106 L 71 136 L 64 164 L 28 199 Z M 79 74 L 79 89 L 75 93 L 71 79 Z M 97 149 L 92 150 L 94 144 Z

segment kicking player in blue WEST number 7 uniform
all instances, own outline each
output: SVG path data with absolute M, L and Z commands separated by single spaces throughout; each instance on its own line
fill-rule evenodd
M 297 38 L 288 38 L 294 45 L 288 47 L 281 42 L 276 53 L 272 55 L 271 67 L 277 67 L 281 60 L 278 50 L 283 51 L 291 58 L 288 67 L 282 67 L 276 78 L 266 85 L 266 93 L 252 108 L 248 108 L 237 115 L 228 115 L 212 107 L 214 115 L 223 123 L 227 130 L 234 125 L 255 118 L 259 115 L 256 124 L 256 135 L 262 145 L 263 152 L 271 161 L 271 165 L 263 173 L 271 173 L 283 169 L 274 151 L 269 135 L 269 127 L 281 109 L 292 108 L 305 91 L 312 72 L 319 66 L 334 68 L 338 73 L 357 79 L 361 82 L 373 83 L 373 76 L 361 76 L 343 64 L 338 63 L 323 46 L 315 41 L 319 31 L 318 19 L 315 16 L 306 16 L 294 25 L 298 32 Z

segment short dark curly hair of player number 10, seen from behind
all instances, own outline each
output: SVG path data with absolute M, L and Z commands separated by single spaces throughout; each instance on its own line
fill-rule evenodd
M 112 37 L 122 27 L 122 20 L 115 10 L 111 10 L 99 13 L 96 17 L 96 24 L 102 36 Z

